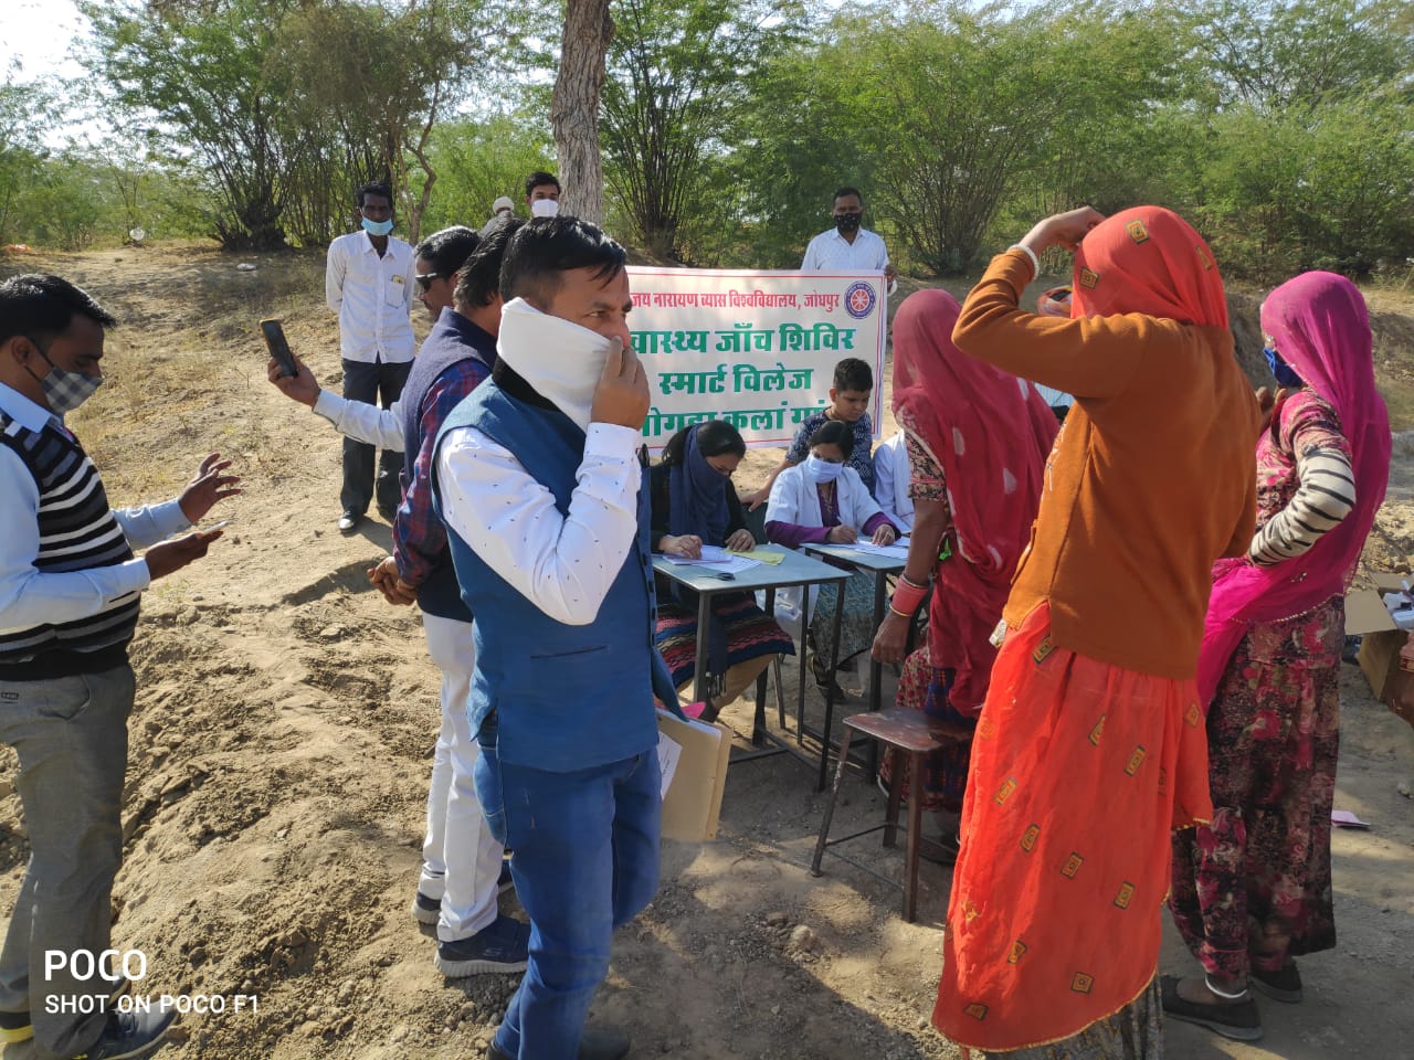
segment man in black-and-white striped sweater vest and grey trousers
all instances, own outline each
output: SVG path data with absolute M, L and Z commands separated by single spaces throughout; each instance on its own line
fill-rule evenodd
M 211 454 L 177 500 L 109 509 L 64 416 L 103 382 L 115 322 L 57 276 L 0 284 L 0 742 L 20 759 L 30 832 L 0 950 L 0 1042 L 33 1037 L 42 1060 L 147 1056 L 173 1020 L 113 1011 L 126 982 L 109 965 L 81 977 L 85 954 L 109 948 L 139 598 L 221 531 L 167 538 L 239 492 Z

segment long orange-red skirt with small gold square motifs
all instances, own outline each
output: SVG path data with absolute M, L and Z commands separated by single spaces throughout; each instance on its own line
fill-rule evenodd
M 1008 632 L 973 739 L 933 1009 L 973 1049 L 1059 1042 L 1143 994 L 1169 832 L 1212 817 L 1196 684 L 1049 633 L 1045 603 Z

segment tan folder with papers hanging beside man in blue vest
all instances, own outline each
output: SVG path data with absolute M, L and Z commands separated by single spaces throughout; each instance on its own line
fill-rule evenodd
M 665 840 L 706 842 L 717 838 L 730 755 L 728 729 L 658 711 Z

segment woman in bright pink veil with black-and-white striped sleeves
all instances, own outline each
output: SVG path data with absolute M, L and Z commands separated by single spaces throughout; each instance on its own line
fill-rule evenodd
M 1198 685 L 1213 821 L 1174 840 L 1169 907 L 1206 975 L 1164 1011 L 1261 1036 L 1249 985 L 1301 1001 L 1294 958 L 1335 946 L 1331 803 L 1345 591 L 1384 500 L 1390 421 L 1356 287 L 1305 273 L 1261 308 L 1278 399 L 1257 442 L 1257 533 L 1213 570 Z

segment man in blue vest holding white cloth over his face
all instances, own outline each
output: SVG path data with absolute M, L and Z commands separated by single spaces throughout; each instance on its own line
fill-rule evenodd
M 614 929 L 658 889 L 653 647 L 642 425 L 624 249 L 574 218 L 526 223 L 501 269 L 499 358 L 438 435 L 434 495 L 477 616 L 477 793 L 515 849 L 530 965 L 491 1060 L 617 1060 L 585 1030 Z

